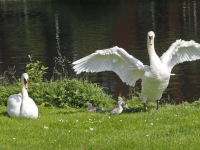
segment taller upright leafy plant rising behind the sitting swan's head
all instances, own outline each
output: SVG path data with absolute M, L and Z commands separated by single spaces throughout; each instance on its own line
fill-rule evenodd
M 31 55 L 28 55 L 30 59 L 30 63 L 26 65 L 26 73 L 29 75 L 29 81 L 31 82 L 41 82 L 43 80 L 43 75 L 48 69 L 48 67 L 44 67 L 44 65 L 41 64 L 40 61 L 36 60 L 34 61 Z

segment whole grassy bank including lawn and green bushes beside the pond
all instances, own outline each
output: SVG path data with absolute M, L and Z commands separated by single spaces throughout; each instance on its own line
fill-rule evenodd
M 39 107 L 39 118 L 7 116 L 7 99 L 20 93 L 20 82 L 12 69 L 6 73 L 15 82 L 8 82 L 6 73 L 0 76 L 0 149 L 199 149 L 200 101 L 166 104 L 160 111 L 149 103 L 147 112 L 143 112 L 142 101 L 132 97 L 126 101 L 130 109 L 120 115 L 89 113 L 84 107 L 87 103 L 105 110 L 114 106 L 114 100 L 97 84 L 67 78 L 63 68 L 60 73 L 55 66 L 57 75 L 50 81 L 43 80 L 46 68 L 40 62 L 31 60 L 27 68 L 28 93 Z

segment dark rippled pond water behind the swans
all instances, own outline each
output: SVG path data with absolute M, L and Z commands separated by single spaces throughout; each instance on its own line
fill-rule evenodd
M 61 53 L 69 61 L 97 49 L 119 46 L 149 65 L 146 34 L 156 34 L 159 56 L 176 39 L 200 43 L 200 2 L 197 0 L 0 0 L 0 74 L 16 67 L 25 71 L 28 55 L 49 67 Z M 174 67 L 164 98 L 179 103 L 200 97 L 200 61 Z M 73 75 L 70 64 L 69 75 Z M 84 74 L 81 74 L 83 76 Z M 87 75 L 116 98 L 127 96 L 129 86 L 113 72 Z M 140 88 L 140 81 L 136 85 Z

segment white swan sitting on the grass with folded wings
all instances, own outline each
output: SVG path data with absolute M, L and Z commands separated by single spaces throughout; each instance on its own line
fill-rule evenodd
M 31 118 L 38 117 L 38 107 L 28 96 L 28 74 L 21 76 L 21 93 L 10 95 L 7 101 L 7 112 L 10 117 Z

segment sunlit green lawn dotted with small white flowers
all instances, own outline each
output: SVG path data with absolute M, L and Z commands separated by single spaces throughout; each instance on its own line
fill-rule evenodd
M 2 106 L 0 149 L 196 150 L 200 145 L 199 112 L 199 102 L 166 105 L 146 113 L 123 111 L 115 116 L 39 107 L 39 119 L 30 120 L 9 118 Z

